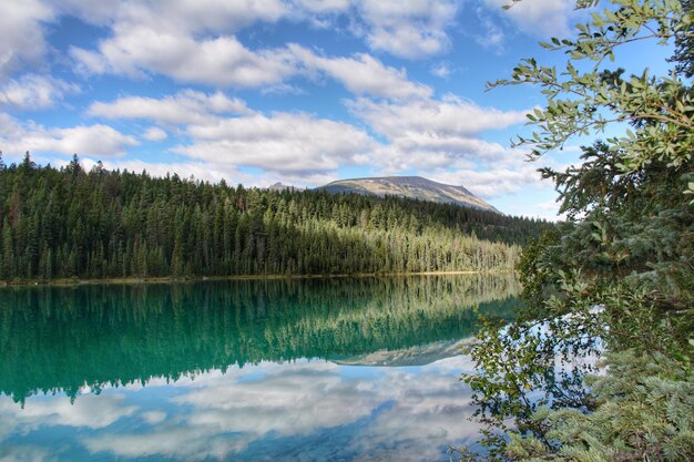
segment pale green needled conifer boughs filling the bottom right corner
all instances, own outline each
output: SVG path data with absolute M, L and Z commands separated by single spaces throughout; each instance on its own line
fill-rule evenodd
M 511 433 L 508 456 L 531 461 L 683 461 L 694 454 L 694 376 L 661 353 L 608 355 L 609 376 L 588 380 L 598 405 L 537 412 L 552 446 Z

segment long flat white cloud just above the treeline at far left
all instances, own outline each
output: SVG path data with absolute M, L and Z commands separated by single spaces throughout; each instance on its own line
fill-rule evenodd
M 0 145 L 2 151 L 18 155 L 32 153 L 60 153 L 72 155 L 119 156 L 129 146 L 139 143 L 108 125 L 78 125 L 70 129 L 44 127 L 28 123 L 21 125 L 11 117 L 0 114 Z

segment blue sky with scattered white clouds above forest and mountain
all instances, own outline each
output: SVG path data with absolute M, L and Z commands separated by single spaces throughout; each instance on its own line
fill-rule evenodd
M 569 0 L 2 0 L 0 150 L 41 164 L 266 187 L 419 175 L 555 219 L 527 133 L 538 89 L 486 90 L 584 18 Z M 627 70 L 667 53 L 627 50 Z M 657 64 L 656 64 L 657 63 Z

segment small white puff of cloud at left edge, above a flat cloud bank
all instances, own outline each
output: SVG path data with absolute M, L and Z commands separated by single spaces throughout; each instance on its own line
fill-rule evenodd
M 39 74 L 24 74 L 18 80 L 10 80 L 0 88 L 0 106 L 27 111 L 53 106 L 68 94 L 74 94 L 80 88 L 60 79 Z

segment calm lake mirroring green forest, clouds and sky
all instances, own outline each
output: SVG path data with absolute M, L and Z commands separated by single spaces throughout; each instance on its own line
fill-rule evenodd
M 0 289 L 0 461 L 448 461 L 513 276 Z

